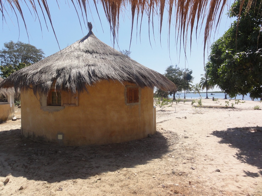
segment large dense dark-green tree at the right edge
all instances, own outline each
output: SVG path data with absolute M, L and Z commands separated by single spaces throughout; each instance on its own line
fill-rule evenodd
M 262 97 L 262 39 L 260 2 L 244 1 L 241 15 L 210 48 L 206 71 L 211 85 L 218 85 L 231 97 L 236 94 Z M 241 1 L 228 13 L 236 17 Z M 249 9 L 250 8 L 250 9 Z M 247 10 L 249 10 L 247 12 Z

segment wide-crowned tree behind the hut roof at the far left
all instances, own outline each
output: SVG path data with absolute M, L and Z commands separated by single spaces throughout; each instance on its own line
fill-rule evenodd
M 41 49 L 23 42 L 6 42 L 0 50 L 0 76 L 7 78 L 11 73 L 36 63 L 44 58 Z

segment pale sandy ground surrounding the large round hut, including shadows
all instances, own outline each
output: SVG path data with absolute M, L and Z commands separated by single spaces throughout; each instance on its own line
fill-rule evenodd
M 155 135 L 102 146 L 37 143 L 20 135 L 20 119 L 2 123 L 0 195 L 262 195 L 262 110 L 255 105 L 262 107 L 157 107 Z

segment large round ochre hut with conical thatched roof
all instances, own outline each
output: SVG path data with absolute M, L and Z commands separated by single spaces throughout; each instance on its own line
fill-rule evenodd
M 81 146 L 142 139 L 156 132 L 154 87 L 176 85 L 100 41 L 84 38 L 2 83 L 21 92 L 21 133 Z

